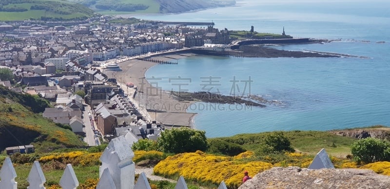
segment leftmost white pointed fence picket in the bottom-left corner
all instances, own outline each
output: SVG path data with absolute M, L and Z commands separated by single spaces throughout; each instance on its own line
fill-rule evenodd
M 18 189 L 18 183 L 15 182 L 16 172 L 11 159 L 6 157 L 0 170 L 0 189 Z

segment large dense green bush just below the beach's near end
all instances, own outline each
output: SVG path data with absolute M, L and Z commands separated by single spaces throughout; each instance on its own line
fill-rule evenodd
M 205 131 L 186 127 L 165 130 L 158 138 L 158 146 L 167 153 L 204 152 L 208 147 L 205 134 Z

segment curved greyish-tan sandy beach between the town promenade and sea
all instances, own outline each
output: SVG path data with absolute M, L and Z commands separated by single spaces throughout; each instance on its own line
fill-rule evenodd
M 176 62 L 176 59 L 185 58 L 194 54 L 168 54 L 154 56 L 152 59 Z M 158 89 L 155 82 L 152 85 L 145 79 L 145 72 L 158 63 L 132 59 L 118 63 L 122 71 L 104 71 L 108 77 L 114 77 L 117 82 L 124 86 L 126 83 L 133 83 L 137 86 L 137 94 L 134 98 L 139 102 L 140 110 L 146 108 L 151 120 L 162 122 L 167 125 L 180 125 L 194 127 L 193 118 L 196 114 L 187 113 L 186 107 L 194 102 L 178 102 L 169 94 L 170 91 Z M 158 80 L 156 80 L 158 82 Z M 123 87 L 122 87 L 123 88 Z M 123 88 L 125 93 L 132 90 Z

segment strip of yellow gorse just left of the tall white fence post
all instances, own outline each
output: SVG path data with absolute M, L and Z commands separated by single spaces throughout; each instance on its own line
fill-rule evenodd
M 100 155 L 98 153 L 89 153 L 83 151 L 75 151 L 68 153 L 55 153 L 51 155 L 45 155 L 39 158 L 39 162 L 46 163 L 49 161 L 59 161 L 62 163 L 71 163 L 72 165 L 100 165 Z

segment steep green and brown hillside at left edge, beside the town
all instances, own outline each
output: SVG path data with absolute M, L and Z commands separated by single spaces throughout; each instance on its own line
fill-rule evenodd
M 9 146 L 34 144 L 36 151 L 85 145 L 77 135 L 43 118 L 47 101 L 0 86 L 0 151 Z

